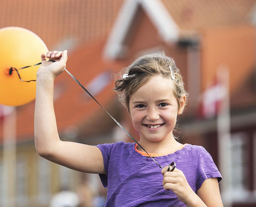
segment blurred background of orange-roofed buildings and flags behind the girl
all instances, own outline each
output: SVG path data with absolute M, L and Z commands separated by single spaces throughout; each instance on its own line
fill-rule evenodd
M 256 0 L 1 0 L 0 28 L 10 26 L 36 33 L 50 51 L 67 49 L 66 68 L 136 139 L 113 74 L 165 51 L 189 92 L 181 143 L 210 152 L 224 206 L 256 206 Z M 0 106 L 0 206 L 104 206 L 98 175 L 36 153 L 34 107 Z M 55 80 L 54 107 L 62 140 L 132 141 L 65 72 Z

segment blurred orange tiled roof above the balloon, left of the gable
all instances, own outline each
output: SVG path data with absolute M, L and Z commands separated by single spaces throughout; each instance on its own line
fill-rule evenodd
M 0 28 L 17 26 L 39 35 L 49 50 L 66 38 L 77 44 L 105 37 L 123 0 L 2 0 Z

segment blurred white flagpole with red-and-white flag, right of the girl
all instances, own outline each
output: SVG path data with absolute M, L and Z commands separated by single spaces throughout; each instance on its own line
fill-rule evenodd
M 217 81 L 222 85 L 218 94 L 223 94 L 217 110 L 217 135 L 219 169 L 223 180 L 220 182 L 221 197 L 225 207 L 232 206 L 232 171 L 231 171 L 231 134 L 230 134 L 230 94 L 229 70 L 226 66 L 217 69 Z

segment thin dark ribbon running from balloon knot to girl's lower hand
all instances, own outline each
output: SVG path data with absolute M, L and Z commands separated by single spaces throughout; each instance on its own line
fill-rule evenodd
M 48 60 L 48 61 L 56 62 L 55 60 Z M 37 63 L 37 64 L 35 64 L 35 65 L 40 65 L 40 64 L 42 64 L 42 62 Z M 14 67 L 11 67 L 10 70 L 9 70 L 9 74 L 12 75 L 13 70 L 15 70 L 15 71 L 17 72 L 17 74 L 18 74 L 19 79 L 20 79 L 21 81 L 24 81 L 24 80 L 21 79 L 21 77 L 20 77 L 20 75 L 19 75 L 19 73 L 18 73 L 18 70 L 24 69 L 24 68 L 28 68 L 28 67 L 31 67 L 31 66 L 35 66 L 35 65 L 25 66 L 25 67 L 22 67 L 22 68 L 19 68 L 19 69 L 16 69 L 16 68 L 14 68 Z M 72 78 L 74 81 L 76 81 L 76 82 L 85 90 L 86 93 L 88 93 L 89 96 L 92 97 L 92 99 L 93 99 L 94 101 L 97 102 L 97 104 L 100 105 L 100 107 L 115 121 L 115 123 L 116 123 L 119 127 L 121 127 L 121 129 L 122 129 L 135 143 L 137 143 L 137 145 L 138 145 L 142 150 L 144 150 L 144 151 L 148 154 L 148 156 L 149 156 L 152 160 L 154 160 L 154 162 L 155 162 L 161 169 L 163 169 L 163 167 L 162 167 L 160 164 L 158 164 L 158 163 L 156 162 L 156 160 L 155 160 L 153 157 L 150 156 L 150 154 L 137 142 L 137 140 L 135 140 L 135 139 L 130 135 L 130 133 L 129 133 L 114 117 L 112 117 L 112 116 L 107 112 L 107 110 L 93 97 L 93 95 L 90 94 L 90 92 L 89 92 L 89 91 L 88 91 L 88 90 L 87 90 L 87 89 L 86 89 L 86 88 L 85 88 L 85 87 L 84 87 L 84 86 L 66 69 L 66 68 L 64 68 L 64 70 L 71 76 L 71 78 Z M 30 80 L 30 81 L 36 81 L 36 80 Z M 30 81 L 24 81 L 24 82 L 30 82 Z

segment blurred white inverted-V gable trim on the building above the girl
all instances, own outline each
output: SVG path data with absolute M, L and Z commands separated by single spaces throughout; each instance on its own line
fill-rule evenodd
M 156 26 L 159 35 L 166 43 L 178 40 L 178 25 L 160 0 L 126 0 L 119 11 L 106 42 L 103 51 L 104 58 L 116 59 L 118 55 L 122 54 L 123 42 L 139 6 L 149 16 L 150 20 Z

